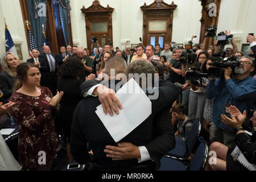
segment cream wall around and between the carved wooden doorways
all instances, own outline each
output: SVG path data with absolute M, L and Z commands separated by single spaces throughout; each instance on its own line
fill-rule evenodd
M 75 44 L 87 47 L 85 19 L 80 9 L 82 6 L 88 8 L 92 5 L 93 0 L 71 0 L 72 11 L 72 31 Z M 110 6 L 114 8 L 113 13 L 113 44 L 114 47 L 123 48 L 126 40 L 130 40 L 131 44 L 139 43 L 142 38 L 143 13 L 141 6 L 146 2 L 150 5 L 154 0 L 101 0 L 102 6 Z M 172 1 L 164 0 L 171 4 Z M 197 35 L 195 42 L 199 42 L 200 19 L 201 19 L 201 3 L 197 0 L 176 0 L 174 3 L 177 9 L 174 11 L 174 28 L 172 31 L 172 40 L 177 43 L 187 43 L 191 40 L 192 35 Z

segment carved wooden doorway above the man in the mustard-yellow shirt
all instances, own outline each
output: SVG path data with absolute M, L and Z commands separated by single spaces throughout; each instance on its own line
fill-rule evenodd
M 155 0 L 151 5 L 144 3 L 141 6 L 143 11 L 143 44 L 160 44 L 163 48 L 165 42 L 172 40 L 172 22 L 174 10 L 177 5 L 172 2 L 171 5 L 163 0 Z

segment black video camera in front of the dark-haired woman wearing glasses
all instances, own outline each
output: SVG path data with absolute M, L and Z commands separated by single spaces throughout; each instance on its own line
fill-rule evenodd
M 200 78 L 208 78 L 207 73 L 201 73 L 201 63 L 197 64 L 197 67 L 189 68 L 190 71 L 188 71 L 185 76 L 186 80 L 190 80 L 194 85 L 202 84 L 202 80 Z

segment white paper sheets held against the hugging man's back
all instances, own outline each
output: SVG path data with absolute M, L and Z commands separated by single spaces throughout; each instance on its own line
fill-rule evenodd
M 151 101 L 133 78 L 115 96 L 122 104 L 118 115 L 105 115 L 102 105 L 95 112 L 115 142 L 119 142 L 150 116 Z

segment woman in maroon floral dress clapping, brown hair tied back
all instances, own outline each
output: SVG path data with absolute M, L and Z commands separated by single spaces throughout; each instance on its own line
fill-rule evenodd
M 50 170 L 60 150 L 53 115 L 63 92 L 52 97 L 48 88 L 39 87 L 40 71 L 31 63 L 20 64 L 17 75 L 10 112 L 19 124 L 19 163 L 22 170 Z

